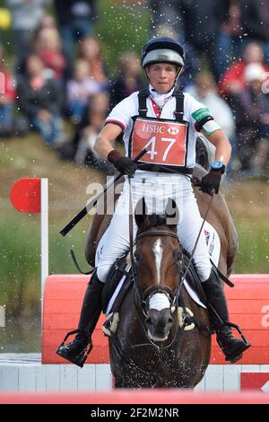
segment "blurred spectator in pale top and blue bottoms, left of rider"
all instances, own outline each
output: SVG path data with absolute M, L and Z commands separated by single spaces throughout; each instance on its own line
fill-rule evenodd
M 76 59 L 74 78 L 67 83 L 67 110 L 75 124 L 80 123 L 91 95 L 97 92 L 100 92 L 100 84 L 91 78 L 89 63 L 83 58 Z

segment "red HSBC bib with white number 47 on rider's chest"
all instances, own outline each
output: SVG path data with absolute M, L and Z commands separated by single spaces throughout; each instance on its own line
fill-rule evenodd
M 130 156 L 134 158 L 147 148 L 139 163 L 153 164 L 152 170 L 157 165 L 182 169 L 187 161 L 187 129 L 187 122 L 137 117 L 130 139 Z

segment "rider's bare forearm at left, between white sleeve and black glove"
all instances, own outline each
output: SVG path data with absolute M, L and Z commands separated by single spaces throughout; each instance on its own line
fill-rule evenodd
M 117 136 L 122 132 L 122 127 L 119 127 L 113 123 L 108 123 L 100 131 L 99 136 L 97 136 L 94 150 L 101 158 L 108 158 L 108 154 L 114 150 L 112 143 L 115 141 Z

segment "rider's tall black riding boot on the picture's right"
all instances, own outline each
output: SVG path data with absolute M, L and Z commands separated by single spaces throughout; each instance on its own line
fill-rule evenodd
M 225 324 L 229 322 L 227 302 L 221 287 L 221 280 L 213 270 L 208 280 L 202 283 L 202 286 L 209 302 L 208 312 L 213 328 L 216 330 L 217 342 L 225 355 L 225 360 L 235 363 L 251 345 L 244 337 L 242 337 L 244 339 L 234 338 L 230 326 Z

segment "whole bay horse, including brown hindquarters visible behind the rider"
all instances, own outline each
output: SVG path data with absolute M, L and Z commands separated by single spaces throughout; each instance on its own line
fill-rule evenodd
M 205 163 L 206 164 L 206 163 Z M 205 167 L 205 165 L 204 165 Z M 195 176 L 206 171 L 197 166 Z M 195 189 L 203 217 L 210 197 Z M 137 204 L 140 206 L 141 204 Z M 115 336 L 109 338 L 109 356 L 116 388 L 194 388 L 202 380 L 211 354 L 211 334 L 206 330 L 181 330 L 175 294 L 182 276 L 182 249 L 176 224 L 166 224 L 164 216 L 135 213 L 138 227 L 136 238 L 136 282 L 127 293 L 119 310 Z M 108 227 L 111 215 L 95 215 L 86 243 L 86 257 L 94 265 L 95 248 Z M 218 268 L 229 276 L 238 241 L 229 209 L 221 194 L 213 199 L 207 221 L 221 240 Z M 162 257 L 156 285 L 156 265 L 152 251 L 161 242 Z M 188 295 L 185 286 L 180 292 L 184 305 L 210 328 L 208 312 Z M 178 298 L 177 298 L 178 300 Z M 152 305 L 152 301 L 155 303 Z M 167 302 L 161 311 L 156 302 Z M 176 305 L 176 309 L 175 308 Z M 158 308 L 158 305 L 157 305 Z

